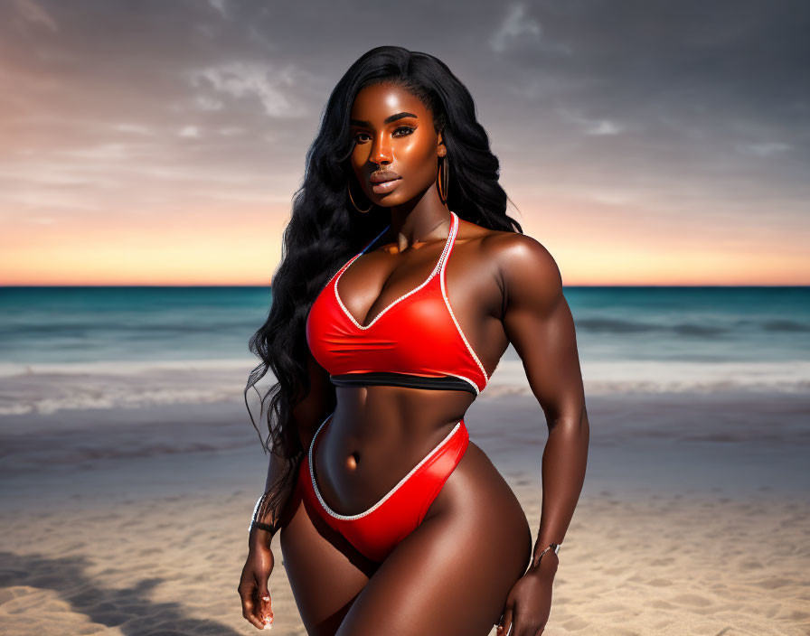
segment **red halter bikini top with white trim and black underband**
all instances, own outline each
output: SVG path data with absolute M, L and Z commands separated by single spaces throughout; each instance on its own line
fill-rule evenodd
M 458 217 L 450 211 L 447 243 L 428 279 L 363 326 L 346 309 L 337 285 L 346 269 L 391 227 L 383 229 L 326 284 L 306 318 L 306 341 L 337 386 L 393 385 L 478 393 L 489 377 L 447 299 L 445 268 Z M 438 274 L 438 276 L 437 276 Z

